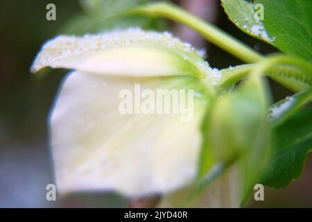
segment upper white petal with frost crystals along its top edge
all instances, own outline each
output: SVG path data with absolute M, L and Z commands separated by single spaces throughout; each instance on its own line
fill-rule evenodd
M 83 37 L 60 35 L 44 44 L 33 72 L 67 68 L 119 76 L 206 76 L 200 54 L 168 33 L 130 28 Z

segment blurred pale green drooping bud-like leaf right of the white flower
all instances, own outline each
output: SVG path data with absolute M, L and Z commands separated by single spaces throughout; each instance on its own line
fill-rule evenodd
M 232 94 L 222 96 L 213 104 L 207 128 L 203 129 L 207 135 L 202 145 L 199 175 L 205 176 L 218 162 L 228 166 L 239 161 L 243 200 L 261 178 L 268 160 L 269 100 L 263 78 L 250 76 Z

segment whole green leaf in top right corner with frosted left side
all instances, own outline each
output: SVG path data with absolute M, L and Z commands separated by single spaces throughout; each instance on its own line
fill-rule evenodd
M 310 0 L 221 0 L 229 19 L 243 32 L 268 42 L 288 55 L 312 62 Z M 254 6 L 263 5 L 263 21 Z

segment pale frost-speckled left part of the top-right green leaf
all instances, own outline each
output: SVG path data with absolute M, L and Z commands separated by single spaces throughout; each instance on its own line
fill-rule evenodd
M 239 27 L 241 31 L 272 44 L 274 38 L 266 33 L 261 20 L 255 19 L 255 10 L 252 3 L 244 0 L 221 0 L 221 2 L 229 19 Z

